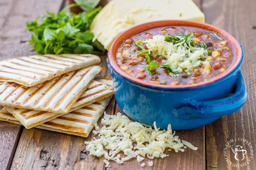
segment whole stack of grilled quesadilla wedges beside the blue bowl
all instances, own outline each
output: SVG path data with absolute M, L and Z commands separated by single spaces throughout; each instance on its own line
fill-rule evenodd
M 0 120 L 87 137 L 112 98 L 110 78 L 92 54 L 0 61 Z

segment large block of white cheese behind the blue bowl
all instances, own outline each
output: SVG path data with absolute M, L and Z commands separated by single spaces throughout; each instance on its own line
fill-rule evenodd
M 204 22 L 204 14 L 192 0 L 112 0 L 94 18 L 90 31 L 108 50 L 124 30 L 158 20 Z

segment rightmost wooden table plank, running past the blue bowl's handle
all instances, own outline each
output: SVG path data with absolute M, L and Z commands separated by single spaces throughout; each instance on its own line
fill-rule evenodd
M 256 98 L 256 43 L 254 35 L 256 30 L 253 29 L 256 18 L 251 15 L 255 11 L 256 1 L 218 1 L 203 0 L 203 12 L 206 15 L 206 23 L 227 30 L 240 41 L 244 48 L 245 58 L 241 67 L 248 88 L 248 97 L 241 110 L 223 116 L 215 122 L 206 126 L 206 160 L 207 169 L 210 165 L 218 165 L 218 169 L 237 169 L 226 162 L 224 158 L 224 148 L 230 140 L 236 140 L 233 146 L 241 145 L 247 154 L 246 159 L 250 156 L 250 149 L 244 143 L 238 141 L 238 138 L 245 138 L 252 146 L 256 147 L 255 135 L 255 98 Z M 244 161 L 236 161 L 235 154 L 230 148 L 227 149 L 227 157 L 234 164 L 243 163 Z M 256 169 L 256 157 L 241 169 Z

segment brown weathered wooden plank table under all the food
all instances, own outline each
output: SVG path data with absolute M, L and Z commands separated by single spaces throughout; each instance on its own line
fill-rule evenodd
M 169 156 L 154 159 L 153 167 L 147 164 L 141 167 L 136 159 L 132 159 L 122 165 L 110 161 L 111 168 L 105 168 L 104 158 L 87 155 L 85 150 L 84 141 L 91 140 L 93 134 L 83 138 L 36 128 L 25 129 L 0 121 L 0 169 L 203 170 L 212 169 L 210 165 L 218 165 L 221 170 L 236 169 L 224 159 L 226 143 L 244 138 L 252 144 L 254 151 L 256 149 L 256 1 L 194 1 L 204 12 L 206 23 L 227 30 L 241 42 L 245 54 L 241 69 L 248 88 L 247 100 L 236 113 L 200 128 L 176 132 L 181 139 L 197 146 L 197 151 L 188 148 L 182 153 L 166 151 Z M 36 54 L 35 51 L 30 52 L 32 46 L 28 42 L 30 33 L 26 30 L 26 21 L 46 14 L 45 7 L 58 12 L 66 3 L 65 0 L 0 0 L 0 60 Z M 101 77 L 110 77 L 105 56 L 101 58 L 104 69 Z M 114 98 L 106 111 L 107 114 L 121 112 Z M 247 150 L 246 159 L 250 156 L 249 152 Z M 239 169 L 256 169 L 256 156 L 252 157 L 247 166 Z

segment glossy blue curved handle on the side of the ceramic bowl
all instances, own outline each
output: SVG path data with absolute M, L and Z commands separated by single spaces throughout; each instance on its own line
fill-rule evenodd
M 235 84 L 235 93 L 232 95 L 210 101 L 185 100 L 179 104 L 174 115 L 181 119 L 201 119 L 221 117 L 238 111 L 247 98 L 247 89 L 241 70 Z M 183 107 L 182 107 L 183 106 Z

